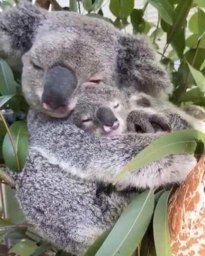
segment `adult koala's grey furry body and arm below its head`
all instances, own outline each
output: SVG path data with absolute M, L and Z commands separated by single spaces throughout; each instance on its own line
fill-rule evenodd
M 97 198 L 98 181 L 113 182 L 121 168 L 160 134 L 92 137 L 69 120 L 51 119 L 32 111 L 28 128 L 26 166 L 15 177 L 20 207 L 49 241 L 81 255 L 98 235 L 114 225 L 130 202 L 128 194 L 117 192 Z M 117 189 L 180 182 L 195 163 L 189 154 L 171 155 L 130 173 Z

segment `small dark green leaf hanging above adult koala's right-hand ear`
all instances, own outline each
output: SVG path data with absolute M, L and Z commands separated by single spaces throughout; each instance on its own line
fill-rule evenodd
M 131 12 L 131 23 L 134 33 L 141 33 L 145 30 L 145 20 L 143 19 L 144 12 L 141 9 L 133 9 Z

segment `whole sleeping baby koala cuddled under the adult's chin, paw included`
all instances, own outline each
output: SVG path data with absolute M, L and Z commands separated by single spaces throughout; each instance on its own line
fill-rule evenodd
M 72 112 L 72 122 L 94 136 L 116 136 L 126 132 L 170 131 L 165 115 L 137 105 L 128 90 L 103 85 L 82 90 Z

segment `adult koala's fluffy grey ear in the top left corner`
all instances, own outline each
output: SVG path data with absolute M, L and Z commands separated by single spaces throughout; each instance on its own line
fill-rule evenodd
M 37 27 L 46 19 L 47 11 L 20 2 L 0 14 L 0 50 L 22 56 L 33 43 Z

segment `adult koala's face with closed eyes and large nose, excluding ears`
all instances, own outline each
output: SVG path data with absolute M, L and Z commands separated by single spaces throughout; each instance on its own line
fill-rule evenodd
M 100 33 L 93 22 L 82 23 L 77 18 L 70 17 L 70 26 L 62 24 L 57 31 L 55 17 L 52 23 L 45 21 L 31 49 L 22 58 L 22 86 L 28 103 L 53 117 L 70 114 L 76 104 L 74 92 L 82 84 L 109 83 L 114 74 L 114 35 L 99 22 Z M 107 47 L 105 38 L 112 41 L 111 46 Z

